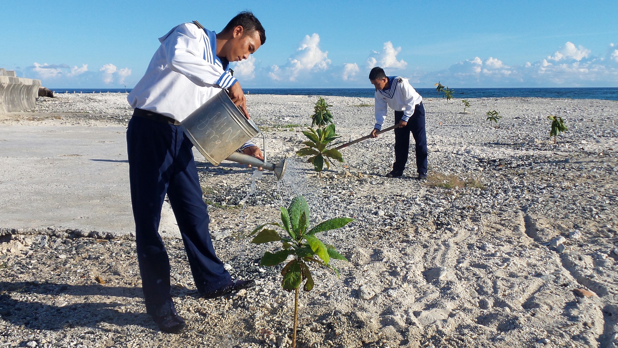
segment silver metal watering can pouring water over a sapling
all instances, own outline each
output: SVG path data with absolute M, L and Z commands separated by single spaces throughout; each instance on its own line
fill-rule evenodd
M 252 120 L 245 118 L 224 90 L 193 111 L 180 126 L 206 160 L 214 165 L 222 160 L 250 164 L 274 172 L 277 180 L 286 172 L 286 159 L 276 164 L 266 162 L 266 149 L 264 161 L 236 152 L 260 130 Z

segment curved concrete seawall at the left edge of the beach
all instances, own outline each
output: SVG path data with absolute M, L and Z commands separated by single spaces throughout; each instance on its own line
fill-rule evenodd
M 15 77 L 15 71 L 0 69 L 0 113 L 35 107 L 41 80 Z

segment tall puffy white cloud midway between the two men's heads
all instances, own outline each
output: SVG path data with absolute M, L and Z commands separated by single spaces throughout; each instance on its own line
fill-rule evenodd
M 305 35 L 300 41 L 296 53 L 287 59 L 287 63 L 279 67 L 271 66 L 268 76 L 273 80 L 297 80 L 301 74 L 308 72 L 325 71 L 329 68 L 331 59 L 328 59 L 328 51 L 320 49 L 320 35 L 317 33 Z

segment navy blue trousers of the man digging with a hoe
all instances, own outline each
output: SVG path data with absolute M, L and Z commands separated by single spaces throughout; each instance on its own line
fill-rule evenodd
M 395 124 L 399 123 L 403 116 L 404 111 L 395 111 Z M 395 163 L 392 165 L 392 170 L 395 172 L 404 172 L 405 163 L 408 162 L 410 133 L 412 133 L 416 142 L 417 172 L 426 174 L 427 136 L 425 134 L 425 107 L 423 107 L 423 103 L 414 108 L 414 113 L 410 116 L 407 126 L 395 128 Z

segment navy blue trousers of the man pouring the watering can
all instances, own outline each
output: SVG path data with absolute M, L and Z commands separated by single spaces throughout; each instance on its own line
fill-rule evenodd
M 195 168 L 193 144 L 180 126 L 133 116 L 127 128 L 131 204 L 146 311 L 169 315 L 169 258 L 158 233 L 167 193 L 199 292 L 231 284 L 214 252 L 208 211 Z

